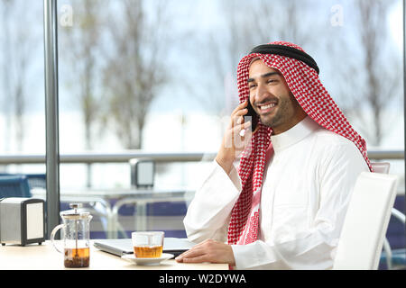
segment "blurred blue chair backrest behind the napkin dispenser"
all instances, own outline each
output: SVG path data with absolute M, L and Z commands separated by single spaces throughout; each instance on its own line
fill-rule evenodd
M 0 176 L 0 198 L 31 196 L 32 194 L 26 176 Z

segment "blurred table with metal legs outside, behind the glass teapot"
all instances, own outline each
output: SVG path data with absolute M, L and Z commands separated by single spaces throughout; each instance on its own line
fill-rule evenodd
M 60 191 L 62 202 L 97 202 L 104 209 L 102 216 L 107 220 L 107 238 L 118 238 L 121 225 L 118 221 L 119 209 L 129 203 L 137 205 L 137 229 L 146 228 L 146 205 L 151 202 L 177 202 L 191 199 L 195 191 L 186 189 L 159 190 L 159 189 L 63 189 Z M 32 197 L 45 199 L 44 189 L 32 189 Z M 115 202 L 113 205 L 111 202 Z

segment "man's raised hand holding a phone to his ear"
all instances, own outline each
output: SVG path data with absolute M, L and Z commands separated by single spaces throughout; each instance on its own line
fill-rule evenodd
M 231 120 L 227 126 L 226 133 L 223 137 L 221 147 L 217 153 L 216 161 L 228 175 L 233 167 L 235 158 L 248 146 L 251 141 L 253 132 L 251 131 L 252 121 L 244 121 L 244 115 L 248 112 L 246 108 L 248 101 L 239 104 L 231 113 Z M 258 130 L 256 127 L 255 131 Z M 244 136 L 240 135 L 241 130 L 245 130 Z

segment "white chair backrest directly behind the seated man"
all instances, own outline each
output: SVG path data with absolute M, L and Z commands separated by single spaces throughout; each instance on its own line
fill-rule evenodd
M 333 269 L 376 270 L 398 183 L 396 175 L 362 172 L 355 183 Z

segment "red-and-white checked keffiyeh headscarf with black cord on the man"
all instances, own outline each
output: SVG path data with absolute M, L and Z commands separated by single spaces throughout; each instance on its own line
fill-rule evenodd
M 351 127 L 343 112 L 328 94 L 318 78 L 318 66 L 313 58 L 299 46 L 275 41 L 255 47 L 241 59 L 237 67 L 237 85 L 240 103 L 249 99 L 248 72 L 254 58 L 261 58 L 268 67 L 284 76 L 291 93 L 302 109 L 319 125 L 354 142 L 370 170 L 364 139 Z M 272 129 L 258 122 L 251 145 L 241 155 L 238 174 L 242 192 L 231 213 L 228 244 L 249 244 L 256 240 L 259 228 L 259 205 L 265 162 L 272 153 Z

